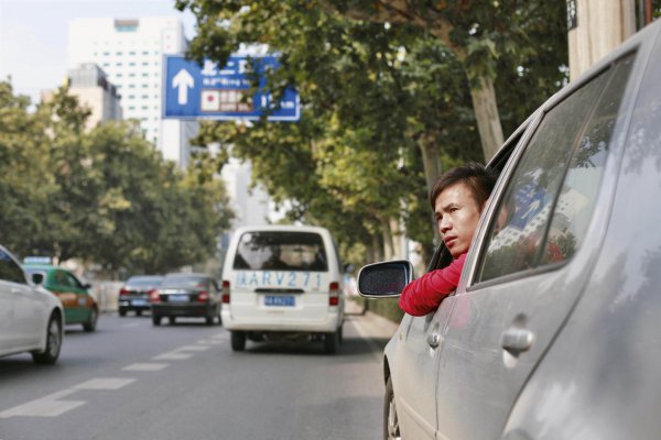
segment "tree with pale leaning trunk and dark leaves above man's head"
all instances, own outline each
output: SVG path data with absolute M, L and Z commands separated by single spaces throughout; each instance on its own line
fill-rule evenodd
M 546 45 L 566 52 L 565 2 L 498 0 L 322 0 L 326 9 L 380 23 L 404 23 L 429 30 L 456 56 L 468 78 L 484 156 L 488 161 L 503 142 L 495 79 L 500 58 L 538 53 L 541 33 Z M 566 59 L 566 57 L 564 58 Z M 556 67 L 557 65 L 554 65 Z

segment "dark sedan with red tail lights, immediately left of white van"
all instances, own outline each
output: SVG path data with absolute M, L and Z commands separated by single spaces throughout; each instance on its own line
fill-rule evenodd
M 151 293 L 151 312 L 154 326 L 167 317 L 174 323 L 177 317 L 202 317 L 208 326 L 220 323 L 220 289 L 216 279 L 206 274 L 166 275 L 161 286 Z

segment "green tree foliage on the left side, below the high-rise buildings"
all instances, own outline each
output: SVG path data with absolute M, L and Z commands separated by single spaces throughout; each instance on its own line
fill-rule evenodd
M 32 113 L 28 107 L 0 82 L 3 244 L 128 273 L 163 273 L 215 254 L 232 213 L 206 154 L 182 173 L 131 123 L 86 132 L 88 112 L 66 88 Z

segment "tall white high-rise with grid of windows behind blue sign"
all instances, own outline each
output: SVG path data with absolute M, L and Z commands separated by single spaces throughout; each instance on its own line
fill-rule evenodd
M 181 166 L 188 162 L 197 122 L 162 119 L 162 74 L 163 55 L 186 47 L 175 16 L 76 19 L 69 24 L 69 66 L 100 66 L 121 95 L 123 118 L 139 120 L 147 140 Z

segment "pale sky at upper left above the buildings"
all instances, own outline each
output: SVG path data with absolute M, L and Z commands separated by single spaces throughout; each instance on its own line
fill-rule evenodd
M 0 0 L 0 80 L 11 76 L 14 95 L 37 102 L 41 90 L 66 77 L 73 19 L 150 15 L 178 16 L 186 38 L 194 36 L 195 18 L 174 9 L 174 0 Z

